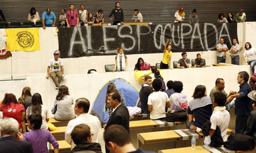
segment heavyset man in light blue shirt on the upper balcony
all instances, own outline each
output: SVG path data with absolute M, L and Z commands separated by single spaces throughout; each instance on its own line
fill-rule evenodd
M 51 12 L 51 8 L 47 8 L 46 12 L 44 12 L 42 15 L 43 28 L 45 29 L 46 27 L 55 27 L 55 23 L 56 23 L 55 14 Z

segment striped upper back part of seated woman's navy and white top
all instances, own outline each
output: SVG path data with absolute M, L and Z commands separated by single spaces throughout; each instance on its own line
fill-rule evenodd
M 197 99 L 193 99 L 193 100 L 189 101 L 188 105 L 189 105 L 190 110 L 193 111 L 200 107 L 212 105 L 212 99 L 209 96 L 197 98 Z

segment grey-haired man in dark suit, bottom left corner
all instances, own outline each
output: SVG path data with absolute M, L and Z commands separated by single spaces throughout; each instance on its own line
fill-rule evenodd
M 4 118 L 0 122 L 0 153 L 33 153 L 30 142 L 16 140 L 19 123 L 14 118 Z

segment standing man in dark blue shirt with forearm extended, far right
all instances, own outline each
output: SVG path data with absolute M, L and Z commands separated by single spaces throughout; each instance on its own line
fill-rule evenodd
M 247 119 L 252 110 L 252 99 L 247 95 L 252 91 L 252 87 L 248 83 L 249 74 L 246 71 L 241 71 L 237 76 L 237 83 L 240 84 L 240 90 L 237 92 L 230 91 L 230 96 L 227 97 L 227 103 L 235 99 L 235 133 L 244 133 L 246 130 Z

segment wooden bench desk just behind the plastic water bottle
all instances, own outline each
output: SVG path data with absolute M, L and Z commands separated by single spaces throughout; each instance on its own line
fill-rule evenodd
M 227 129 L 227 134 L 233 133 Z M 197 139 L 197 145 L 204 145 L 203 133 L 196 133 L 190 129 L 169 130 L 137 134 L 137 147 L 157 151 L 159 149 L 181 148 L 191 146 L 192 136 Z M 168 143 L 166 143 L 168 142 Z

